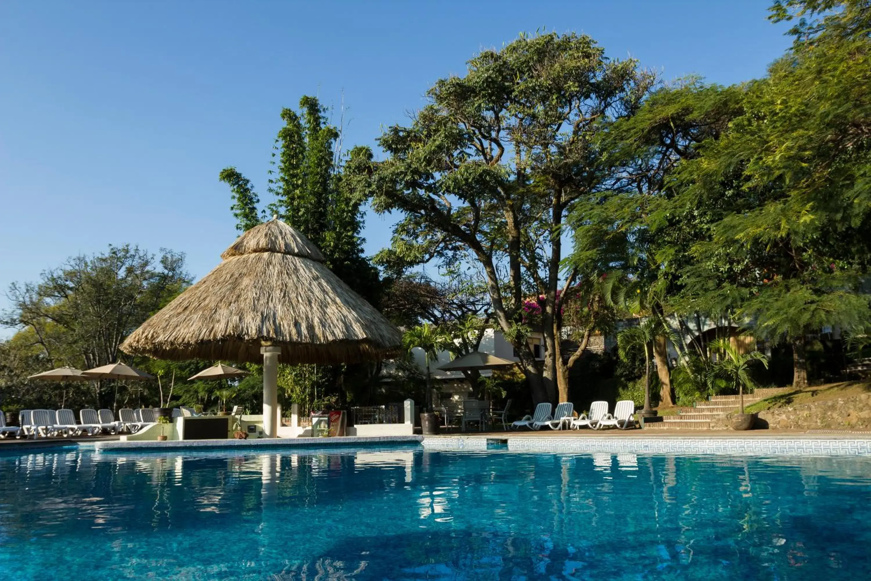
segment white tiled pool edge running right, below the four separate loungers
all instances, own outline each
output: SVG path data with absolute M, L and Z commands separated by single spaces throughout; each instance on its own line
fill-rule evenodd
M 871 438 L 844 436 L 441 436 L 425 437 L 422 445 L 427 450 L 475 451 L 488 449 L 488 440 L 506 442 L 515 452 L 871 456 Z

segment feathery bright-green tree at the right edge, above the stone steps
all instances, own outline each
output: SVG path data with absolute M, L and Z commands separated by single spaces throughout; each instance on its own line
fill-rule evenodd
M 740 114 L 680 167 L 673 207 L 719 209 L 688 253 L 685 294 L 789 341 L 801 387 L 807 334 L 869 317 L 871 38 L 868 3 L 773 7 L 796 16 L 793 48 L 741 87 Z

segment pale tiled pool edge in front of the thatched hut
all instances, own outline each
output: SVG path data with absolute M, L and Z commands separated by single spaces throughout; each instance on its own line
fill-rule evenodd
M 258 438 L 254 440 L 170 440 L 166 442 L 95 442 L 98 452 L 179 449 L 347 448 L 351 445 L 421 443 L 423 436 L 340 436 L 330 438 Z

